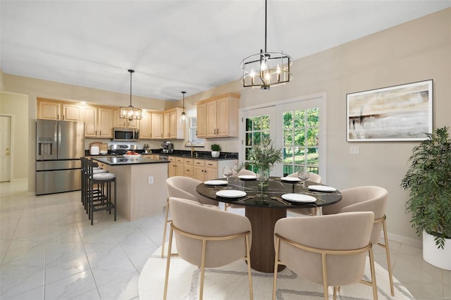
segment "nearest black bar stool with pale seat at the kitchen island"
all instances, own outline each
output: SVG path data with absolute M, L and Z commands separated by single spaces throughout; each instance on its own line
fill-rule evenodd
M 87 212 L 91 225 L 94 225 L 95 211 L 114 210 L 114 220 L 116 221 L 116 175 L 108 171 L 94 170 L 94 163 L 87 161 Z M 114 183 L 114 196 L 111 194 L 111 184 Z M 94 189 L 94 186 L 97 186 Z M 112 197 L 114 199 L 112 199 Z

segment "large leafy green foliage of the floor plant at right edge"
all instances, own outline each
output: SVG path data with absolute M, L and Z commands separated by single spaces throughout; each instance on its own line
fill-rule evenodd
M 435 245 L 443 248 L 445 239 L 451 239 L 451 140 L 447 127 L 426 135 L 412 149 L 401 187 L 409 189 L 406 211 L 412 213 L 416 234 L 433 235 Z

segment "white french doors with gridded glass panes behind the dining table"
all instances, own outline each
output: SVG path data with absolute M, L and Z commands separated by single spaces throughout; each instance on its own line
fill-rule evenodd
M 243 109 L 240 157 L 247 162 L 252 146 L 270 138 L 283 149 L 283 163 L 272 176 L 289 175 L 305 166 L 326 181 L 326 94 L 278 101 L 266 107 Z M 252 170 L 252 166 L 249 166 Z

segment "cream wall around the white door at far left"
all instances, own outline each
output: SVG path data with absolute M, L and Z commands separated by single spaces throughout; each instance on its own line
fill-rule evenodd
M 0 93 L 0 114 L 11 116 L 11 181 L 28 177 L 28 96 Z

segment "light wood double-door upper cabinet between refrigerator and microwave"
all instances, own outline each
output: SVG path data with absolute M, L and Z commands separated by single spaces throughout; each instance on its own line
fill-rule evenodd
M 113 137 L 113 109 L 85 106 L 85 137 Z

